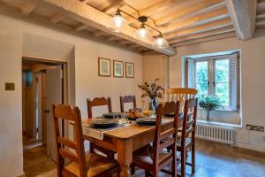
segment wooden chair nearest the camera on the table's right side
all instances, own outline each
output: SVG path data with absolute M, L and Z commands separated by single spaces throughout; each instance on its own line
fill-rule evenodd
M 155 140 L 153 142 L 153 153 L 145 153 L 146 147 L 133 153 L 132 167 L 138 166 L 145 170 L 147 175 L 157 177 L 159 172 L 170 173 L 177 176 L 177 142 L 178 142 L 178 108 L 179 102 L 159 104 L 156 108 Z M 162 117 L 165 113 L 175 112 L 174 127 L 162 130 Z M 171 147 L 171 151 L 164 149 Z M 166 165 L 172 165 L 171 172 L 164 170 Z

